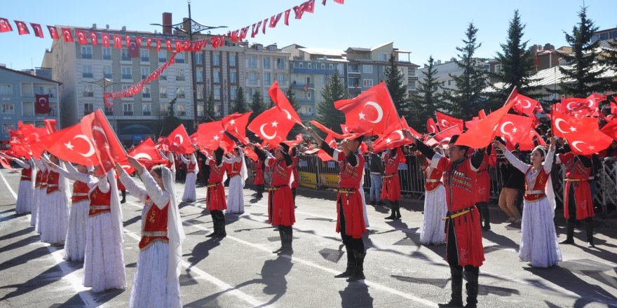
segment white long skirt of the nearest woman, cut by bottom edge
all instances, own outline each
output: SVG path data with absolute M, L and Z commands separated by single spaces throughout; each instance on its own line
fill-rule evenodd
M 140 252 L 133 288 L 130 290 L 130 307 L 182 307 L 178 277 L 170 286 L 167 283 L 168 264 L 169 245 L 163 241 L 155 241 Z

